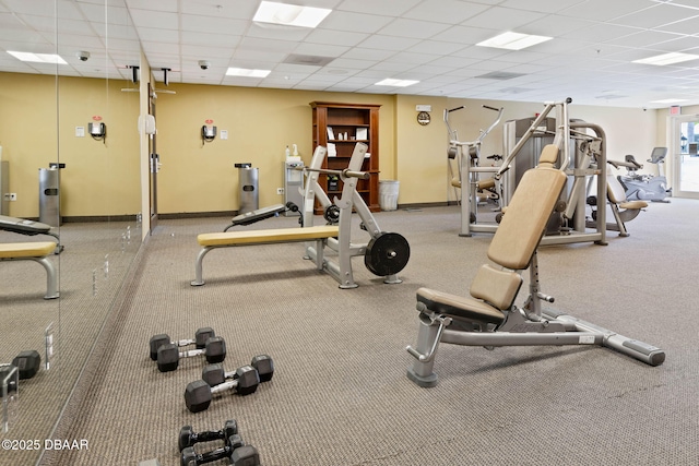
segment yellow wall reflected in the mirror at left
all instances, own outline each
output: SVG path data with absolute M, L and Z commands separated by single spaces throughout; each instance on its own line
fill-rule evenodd
M 123 82 L 0 73 L 0 145 L 10 162 L 10 215 L 38 217 L 38 169 L 61 170 L 61 214 L 135 214 L 141 199 L 138 176 L 138 93 L 122 93 Z M 58 94 L 57 94 L 58 88 Z M 58 111 L 57 111 L 58 109 Z M 103 144 L 75 136 L 100 116 Z M 58 122 L 58 123 L 57 123 Z

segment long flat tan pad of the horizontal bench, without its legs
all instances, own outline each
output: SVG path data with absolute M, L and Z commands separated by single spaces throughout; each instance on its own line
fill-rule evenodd
M 322 225 L 305 228 L 276 228 L 268 230 L 246 230 L 201 234 L 197 237 L 203 247 L 225 247 L 245 244 L 268 244 L 274 242 L 312 241 L 340 235 L 337 226 Z M 54 244 L 56 247 L 56 244 Z

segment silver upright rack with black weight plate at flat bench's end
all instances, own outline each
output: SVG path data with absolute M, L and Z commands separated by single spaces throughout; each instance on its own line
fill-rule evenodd
M 410 244 L 407 240 L 395 232 L 382 231 L 376 218 L 369 211 L 362 195 L 357 192 L 357 181 L 368 179 L 370 174 L 359 171 L 368 146 L 363 143 L 355 145 L 350 164 L 344 170 L 328 170 L 322 168 L 323 159 L 328 151 L 323 146 L 316 147 L 311 163 L 307 167 L 299 167 L 306 172 L 303 204 L 303 226 L 313 225 L 313 207 L 318 202 L 323 211 L 323 217 L 329 223 L 339 224 L 337 238 L 328 238 L 327 247 L 337 253 L 337 262 L 325 256 L 322 260 L 323 270 L 334 277 L 340 288 L 356 288 L 352 272 L 352 258 L 364 255 L 366 267 L 375 275 L 383 276 L 383 283 L 398 284 L 402 280 L 398 277 L 410 259 Z M 323 188 L 318 182 L 319 174 L 335 175 L 342 182 L 342 198 L 330 200 Z M 352 242 L 352 212 L 357 213 L 362 220 L 360 228 L 369 234 L 368 243 Z M 306 243 L 305 259 L 317 261 L 319 253 L 315 242 Z

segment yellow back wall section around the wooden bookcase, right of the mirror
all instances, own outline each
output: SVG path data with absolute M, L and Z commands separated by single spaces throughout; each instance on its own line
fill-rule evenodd
M 312 156 L 308 104 L 313 100 L 380 104 L 380 169 L 394 175 L 392 96 L 187 84 L 168 89 L 177 94 L 161 94 L 156 104 L 162 214 L 237 210 L 237 163 L 259 169 L 260 206 L 282 203 L 276 188 L 284 186 L 285 147 L 297 144 L 306 164 Z M 202 143 L 206 120 L 213 120 L 217 135 Z M 228 131 L 227 140 L 221 139 L 222 131 Z

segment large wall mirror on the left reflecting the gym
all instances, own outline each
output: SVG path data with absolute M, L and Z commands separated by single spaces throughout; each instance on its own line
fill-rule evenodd
M 23 62 L 8 51 L 55 53 L 64 63 Z M 141 51 L 123 0 L 17 0 L 0 3 L 0 55 L 2 198 L 16 199 L 2 214 L 54 220 L 39 218 L 39 207 L 56 194 L 45 190 L 40 171 L 55 169 L 59 214 L 51 232 L 62 247 L 47 258 L 57 271 L 56 299 L 44 299 L 40 264 L 0 262 L 0 363 L 26 350 L 40 356 L 36 374 L 21 380 L 5 405 L 0 437 L 50 439 L 141 243 L 132 70 Z M 0 243 L 34 241 L 56 239 L 0 229 Z M 19 450 L 15 464 L 40 461 L 43 445 Z

